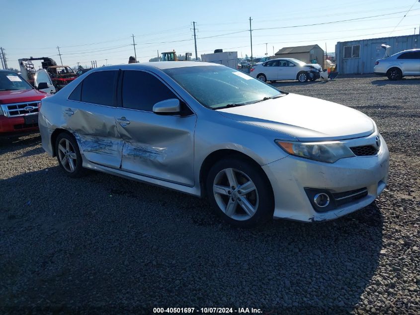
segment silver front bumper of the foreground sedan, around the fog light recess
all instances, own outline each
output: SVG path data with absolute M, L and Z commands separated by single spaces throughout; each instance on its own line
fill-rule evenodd
M 388 179 L 389 151 L 382 136 L 381 142 L 375 156 L 344 158 L 330 164 L 289 155 L 262 166 L 274 192 L 274 218 L 330 220 L 371 204 Z M 305 188 L 327 190 L 331 194 L 366 188 L 367 195 L 320 212 L 314 209 Z

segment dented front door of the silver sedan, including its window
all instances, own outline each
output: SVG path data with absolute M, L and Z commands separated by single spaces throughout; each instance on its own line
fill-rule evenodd
M 117 129 L 124 140 L 121 169 L 186 186 L 194 185 L 196 115 L 160 115 L 157 102 L 178 98 L 156 75 L 124 71 Z

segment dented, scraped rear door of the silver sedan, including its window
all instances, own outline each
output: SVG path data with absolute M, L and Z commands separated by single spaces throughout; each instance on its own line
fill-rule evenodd
M 62 106 L 67 129 L 77 138 L 84 157 L 116 169 L 123 145 L 115 122 L 117 80 L 118 71 L 93 72 Z

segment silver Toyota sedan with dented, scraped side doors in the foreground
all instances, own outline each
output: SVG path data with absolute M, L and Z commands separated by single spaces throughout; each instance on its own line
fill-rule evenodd
M 333 219 L 382 192 L 389 152 L 374 121 L 199 62 L 93 69 L 42 100 L 42 146 L 84 168 L 207 197 L 228 222 Z

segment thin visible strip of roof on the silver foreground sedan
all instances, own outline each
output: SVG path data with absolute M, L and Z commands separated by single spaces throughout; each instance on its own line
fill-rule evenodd
M 132 63 L 132 64 L 121 64 L 121 65 L 113 65 L 113 66 L 105 66 L 94 68 L 96 71 L 100 70 L 115 70 L 115 69 L 122 69 L 122 70 L 134 70 L 134 69 L 141 69 L 141 70 L 166 70 L 166 69 L 173 69 L 173 68 L 187 68 L 187 67 L 199 67 L 199 66 L 218 66 L 224 67 L 220 64 L 210 63 L 210 62 L 198 62 L 198 61 L 155 61 L 155 62 L 139 62 L 139 63 Z

